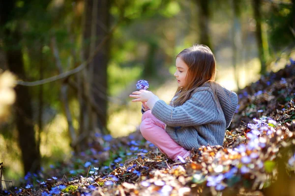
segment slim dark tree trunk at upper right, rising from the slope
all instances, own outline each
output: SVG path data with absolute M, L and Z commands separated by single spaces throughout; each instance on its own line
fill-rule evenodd
M 253 0 L 254 19 L 256 20 L 256 42 L 258 47 L 259 59 L 261 62 L 260 74 L 266 73 L 266 57 L 263 48 L 263 31 L 262 31 L 262 17 L 261 17 L 261 0 Z

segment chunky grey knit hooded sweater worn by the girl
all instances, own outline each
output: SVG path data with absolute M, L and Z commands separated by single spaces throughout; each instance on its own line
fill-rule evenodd
M 220 87 L 215 94 L 205 83 L 181 106 L 167 105 L 157 96 L 149 99 L 147 105 L 166 124 L 165 130 L 173 140 L 185 149 L 198 149 L 201 145 L 222 145 L 236 111 L 235 92 Z

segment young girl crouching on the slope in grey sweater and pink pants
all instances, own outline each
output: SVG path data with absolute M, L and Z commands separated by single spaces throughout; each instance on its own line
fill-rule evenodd
M 143 102 L 143 137 L 174 161 L 189 156 L 192 148 L 223 144 L 238 98 L 214 82 L 215 74 L 211 50 L 194 45 L 176 56 L 178 88 L 170 105 L 148 90 L 130 95 L 133 102 Z

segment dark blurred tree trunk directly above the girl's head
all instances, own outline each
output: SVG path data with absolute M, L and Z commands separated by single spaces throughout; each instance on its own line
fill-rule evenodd
M 207 45 L 213 52 L 213 47 L 210 40 L 210 30 L 209 30 L 209 19 L 210 19 L 210 10 L 209 10 L 209 0 L 196 0 L 199 7 L 199 32 L 200 40 L 199 44 Z

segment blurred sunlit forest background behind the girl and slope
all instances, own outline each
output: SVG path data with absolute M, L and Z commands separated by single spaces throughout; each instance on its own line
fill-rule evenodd
M 295 0 L 1 0 L 5 178 L 137 130 L 136 82 L 168 102 L 175 56 L 194 43 L 212 49 L 217 82 L 237 91 L 295 58 Z

